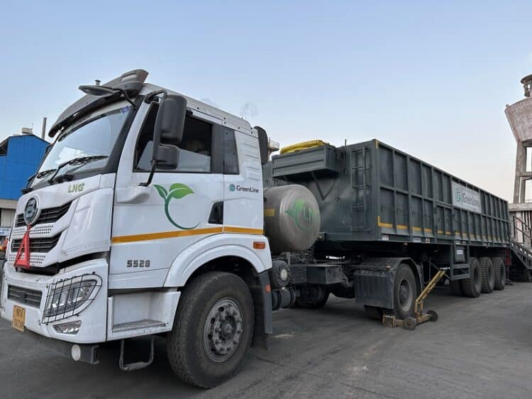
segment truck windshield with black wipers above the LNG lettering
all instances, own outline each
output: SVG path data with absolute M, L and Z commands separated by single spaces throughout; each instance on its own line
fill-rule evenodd
M 55 172 L 74 175 L 104 168 L 130 111 L 129 106 L 114 109 L 65 129 L 46 155 L 30 187 L 48 181 Z M 75 162 L 82 158 L 89 158 L 90 162 Z M 74 162 L 69 163 L 70 160 Z

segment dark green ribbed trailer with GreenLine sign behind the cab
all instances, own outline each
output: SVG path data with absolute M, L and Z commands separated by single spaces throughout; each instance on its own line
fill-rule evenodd
M 356 297 L 370 315 L 405 316 L 442 267 L 457 295 L 504 288 L 508 203 L 419 158 L 377 140 L 326 144 L 275 155 L 264 175 L 265 187 L 304 185 L 318 202 L 318 241 L 290 259 L 302 305 L 334 293 Z

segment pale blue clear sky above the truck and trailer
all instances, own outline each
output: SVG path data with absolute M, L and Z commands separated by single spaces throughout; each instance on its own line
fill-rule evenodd
M 0 140 L 143 68 L 282 145 L 378 138 L 513 195 L 504 106 L 532 73 L 530 0 L 0 4 Z

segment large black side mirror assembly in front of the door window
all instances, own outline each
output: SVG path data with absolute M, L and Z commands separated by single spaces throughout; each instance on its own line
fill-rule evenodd
M 168 169 L 177 168 L 179 160 L 177 145 L 183 138 L 185 116 L 187 116 L 187 99 L 176 94 L 166 94 L 162 98 L 153 129 L 152 169 L 148 181 L 141 185 L 150 185 L 156 165 Z M 161 144 L 161 141 L 164 144 Z

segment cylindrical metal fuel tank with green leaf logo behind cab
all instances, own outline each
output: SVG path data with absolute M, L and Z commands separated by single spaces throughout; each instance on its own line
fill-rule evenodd
M 318 238 L 321 219 L 316 198 L 302 185 L 264 190 L 266 236 L 273 252 L 305 251 Z

